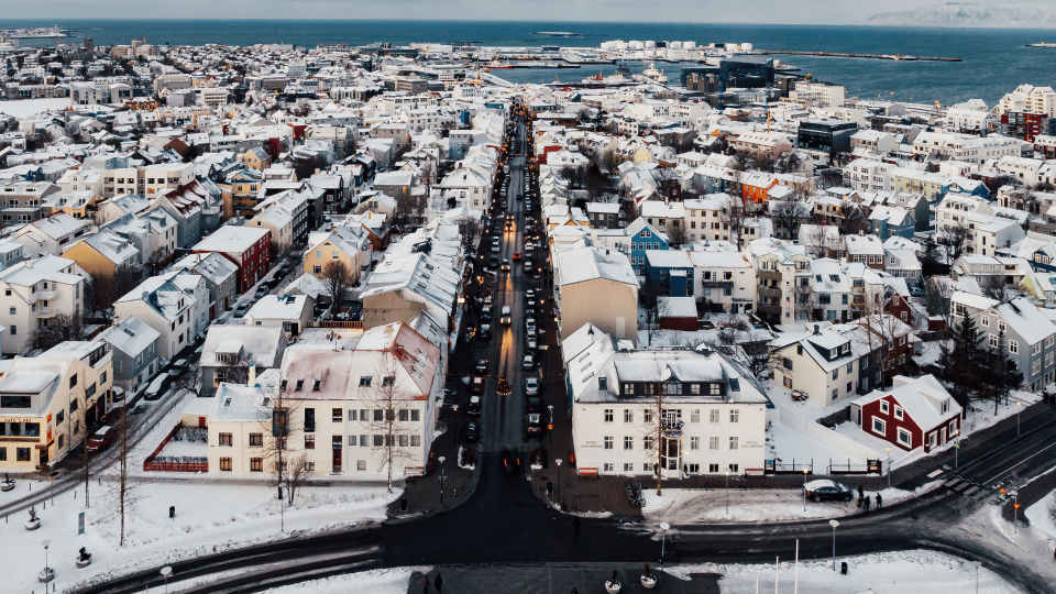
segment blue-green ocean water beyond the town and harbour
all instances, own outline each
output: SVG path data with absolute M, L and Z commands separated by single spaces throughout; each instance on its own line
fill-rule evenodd
M 1056 86 L 1056 50 L 1025 47 L 1036 42 L 1056 42 L 1056 31 L 980 29 L 915 29 L 868 26 L 807 26 L 690 23 L 591 23 L 525 21 L 174 21 L 174 20 L 70 20 L 28 21 L 0 19 L 0 29 L 51 26 L 76 29 L 77 37 L 91 37 L 97 45 L 129 43 L 146 36 L 148 43 L 201 45 L 218 43 L 293 43 L 312 47 L 319 43 L 363 45 L 389 42 L 474 42 L 482 45 L 560 45 L 597 47 L 607 40 L 695 41 L 752 43 L 757 48 L 915 56 L 959 57 L 960 63 L 894 62 L 878 59 L 777 56 L 811 73 L 814 78 L 847 87 L 848 96 L 899 101 L 954 103 L 979 98 L 993 105 L 1022 82 Z M 542 31 L 568 31 L 575 37 L 538 35 Z M 23 44 L 54 41 L 23 40 Z M 674 65 L 658 64 L 669 78 Z M 638 66 L 640 68 L 640 66 Z M 496 70 L 515 81 L 579 80 L 613 67 L 561 70 Z M 637 69 L 632 66 L 631 69 Z

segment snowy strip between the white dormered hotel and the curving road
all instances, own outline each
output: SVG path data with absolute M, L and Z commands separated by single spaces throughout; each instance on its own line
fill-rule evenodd
M 880 492 L 887 506 L 921 495 L 938 482 L 930 483 L 915 492 L 886 488 Z M 851 488 L 857 485 L 848 484 Z M 866 492 L 876 497 L 876 492 Z M 657 497 L 656 490 L 645 490 L 646 506 L 641 508 L 652 524 L 666 521 L 672 525 L 739 522 L 739 521 L 795 521 L 815 518 L 838 518 L 858 514 L 855 502 L 806 502 L 799 490 L 729 490 L 729 514 L 726 513 L 724 488 L 666 488 Z

